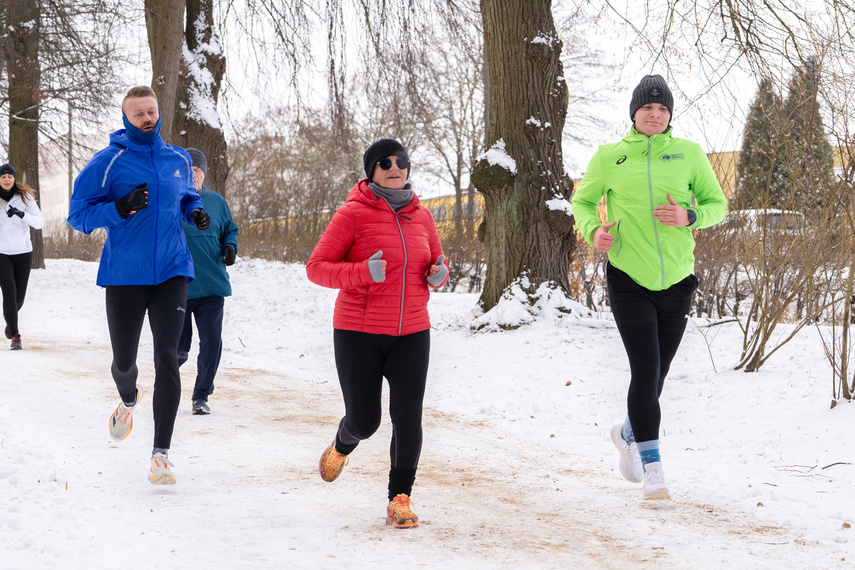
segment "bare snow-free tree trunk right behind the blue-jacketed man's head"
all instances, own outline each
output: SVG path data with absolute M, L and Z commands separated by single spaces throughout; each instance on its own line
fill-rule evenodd
M 151 52 L 151 88 L 160 104 L 160 134 L 168 143 L 172 143 L 172 121 L 177 106 L 183 24 L 184 2 L 145 0 L 145 25 Z

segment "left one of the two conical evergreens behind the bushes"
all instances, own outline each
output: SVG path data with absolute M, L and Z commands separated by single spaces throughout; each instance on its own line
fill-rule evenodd
M 742 149 L 736 163 L 733 209 L 780 208 L 783 101 L 772 79 L 760 82 L 742 132 Z

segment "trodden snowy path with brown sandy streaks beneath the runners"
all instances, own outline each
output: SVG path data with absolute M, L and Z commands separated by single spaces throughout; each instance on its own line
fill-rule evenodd
M 388 420 L 354 452 L 339 480 L 324 483 L 316 466 L 342 413 L 338 388 L 268 370 L 222 368 L 211 398 L 214 413 L 206 417 L 190 415 L 193 370 L 189 365 L 182 370 L 184 399 L 170 454 L 179 485 L 152 489 L 143 473 L 153 382 L 145 357 L 140 381 L 148 388 L 146 406 L 132 437 L 115 446 L 106 442 L 106 419 L 115 402 L 105 377 L 109 348 L 64 339 L 27 348 L 16 361 L 17 378 L 38 382 L 40 390 L 64 402 L 52 418 L 55 433 L 38 439 L 46 437 L 38 435 L 45 426 L 31 386 L 0 381 L 3 410 L 22 418 L 22 431 L 36 434 L 32 445 L 50 441 L 48 451 L 65 466 L 63 476 L 72 489 L 84 486 L 78 478 L 91 479 L 91 471 L 79 464 L 77 450 L 86 449 L 98 475 L 94 483 L 86 481 L 77 499 L 88 509 L 77 522 L 85 521 L 99 535 L 99 525 L 112 524 L 108 513 L 121 498 L 134 516 L 113 533 L 119 546 L 163 549 L 165 562 L 176 568 L 188 563 L 465 569 L 848 564 L 825 545 L 734 512 L 679 496 L 646 503 L 637 486 L 615 477 L 613 466 L 584 464 L 572 452 L 431 409 L 414 491 L 422 525 L 395 531 L 383 521 Z M 101 556 L 106 561 L 117 548 L 87 540 L 95 561 Z

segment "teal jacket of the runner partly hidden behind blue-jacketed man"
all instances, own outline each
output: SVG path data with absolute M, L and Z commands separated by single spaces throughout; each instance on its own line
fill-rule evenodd
M 223 248 L 231 246 L 237 253 L 238 227 L 232 220 L 232 212 L 226 199 L 205 188 L 199 191 L 202 206 L 211 216 L 211 226 L 199 230 L 196 226 L 184 224 L 187 235 L 187 247 L 193 256 L 196 279 L 187 285 L 187 298 L 198 299 L 218 295 L 228 297 L 232 294 L 229 274 L 223 263 Z

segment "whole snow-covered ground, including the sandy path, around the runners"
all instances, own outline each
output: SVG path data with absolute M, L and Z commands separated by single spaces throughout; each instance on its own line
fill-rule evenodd
M 117 404 L 97 264 L 48 260 L 21 313 L 24 350 L 0 350 L 0 568 L 851 568 L 855 405 L 829 408 L 816 331 L 756 374 L 731 370 L 734 324 L 689 325 L 662 397 L 674 500 L 625 481 L 608 436 L 628 367 L 611 316 L 472 333 L 476 296 L 435 294 L 415 510 L 384 524 L 388 440 L 334 483 L 317 461 L 343 412 L 332 357 L 335 291 L 300 265 L 231 269 L 210 416 L 190 414 L 193 362 L 170 459 L 146 479 L 151 341 L 134 430 Z M 548 311 L 547 311 L 548 313 Z M 702 334 L 706 333 L 706 336 Z M 783 333 L 783 331 L 782 331 Z

